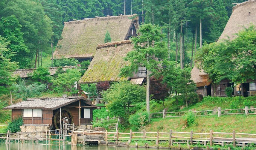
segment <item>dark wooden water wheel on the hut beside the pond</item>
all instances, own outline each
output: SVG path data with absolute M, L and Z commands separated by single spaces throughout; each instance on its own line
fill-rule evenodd
M 70 111 L 67 110 L 66 108 L 62 108 L 61 109 L 61 119 L 65 118 L 65 117 L 67 117 L 69 119 L 69 124 L 73 123 L 73 117 L 72 117 L 72 114 L 70 113 Z M 55 110 L 53 112 L 52 120 L 53 120 L 53 126 L 55 127 L 55 129 L 60 129 L 61 124 L 60 124 L 60 111 L 59 111 L 59 109 Z M 62 126 L 63 126 L 63 120 L 62 120 Z

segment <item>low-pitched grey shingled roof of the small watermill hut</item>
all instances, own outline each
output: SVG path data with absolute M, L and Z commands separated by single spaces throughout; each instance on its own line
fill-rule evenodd
M 95 106 L 91 104 L 91 101 L 85 99 L 84 97 L 72 96 L 67 98 L 38 98 L 38 99 L 27 99 L 11 106 L 5 107 L 3 109 L 43 109 L 43 110 L 56 110 L 60 107 L 64 107 L 73 102 L 84 100 L 86 104 L 90 106 Z M 95 106 L 96 107 L 96 106 Z

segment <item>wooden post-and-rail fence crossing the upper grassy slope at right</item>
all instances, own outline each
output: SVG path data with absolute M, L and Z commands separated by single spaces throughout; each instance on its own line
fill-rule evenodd
M 150 118 L 183 117 L 189 111 L 166 112 L 165 110 L 163 110 L 163 112 L 151 113 Z M 194 113 L 195 116 L 218 115 L 218 117 L 220 117 L 221 115 L 233 115 L 233 114 L 245 114 L 245 116 L 255 115 L 256 113 L 254 113 L 254 111 L 256 111 L 256 108 L 244 107 L 244 108 L 221 110 L 221 108 L 218 107 L 215 110 L 203 110 L 203 111 L 191 111 L 191 112 Z

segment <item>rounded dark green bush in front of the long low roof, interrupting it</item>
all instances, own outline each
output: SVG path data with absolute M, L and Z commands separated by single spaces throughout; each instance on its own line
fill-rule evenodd
M 35 82 L 46 83 L 50 82 L 52 77 L 50 76 L 49 68 L 39 66 L 32 74 L 29 75 Z

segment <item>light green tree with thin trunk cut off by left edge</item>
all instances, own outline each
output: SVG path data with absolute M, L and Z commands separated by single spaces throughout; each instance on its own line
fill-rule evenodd
M 18 68 L 18 63 L 10 61 L 14 52 L 7 48 L 9 44 L 5 38 L 0 36 L 0 95 L 9 92 L 12 104 L 11 85 L 17 79 L 13 72 Z

